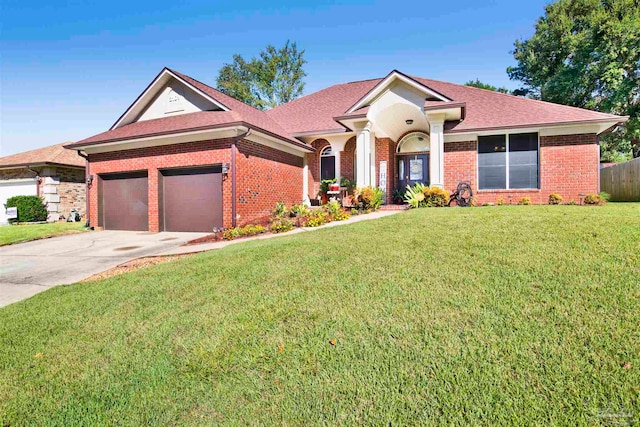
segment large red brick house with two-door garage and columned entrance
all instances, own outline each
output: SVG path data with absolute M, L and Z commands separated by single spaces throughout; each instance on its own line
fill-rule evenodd
M 411 77 L 339 84 L 262 112 L 168 68 L 89 158 L 90 220 L 209 231 L 317 196 L 321 179 L 394 189 L 469 181 L 480 203 L 598 191 L 598 135 L 627 118 Z

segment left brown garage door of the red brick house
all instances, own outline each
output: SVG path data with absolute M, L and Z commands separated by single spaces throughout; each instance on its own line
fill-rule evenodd
M 146 172 L 100 176 L 102 226 L 107 230 L 149 229 L 149 184 Z

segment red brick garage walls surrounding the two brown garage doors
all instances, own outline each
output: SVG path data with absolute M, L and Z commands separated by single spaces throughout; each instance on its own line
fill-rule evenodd
M 159 170 L 231 163 L 232 139 L 189 142 L 160 147 L 139 148 L 89 157 L 91 174 L 147 170 L 149 173 L 149 231 L 159 231 Z M 267 215 L 278 200 L 300 203 L 302 200 L 302 158 L 264 147 L 250 141 L 237 144 L 237 211 L 238 224 Z M 276 177 L 285 177 L 280 179 Z M 286 182 L 285 182 L 286 181 Z M 277 185 L 274 183 L 277 182 Z M 90 220 L 98 225 L 98 185 L 90 189 Z M 230 227 L 231 172 L 222 182 L 223 224 Z

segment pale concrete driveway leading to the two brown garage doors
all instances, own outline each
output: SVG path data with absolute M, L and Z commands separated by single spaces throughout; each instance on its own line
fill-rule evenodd
M 94 231 L 0 247 L 0 307 L 206 234 Z

